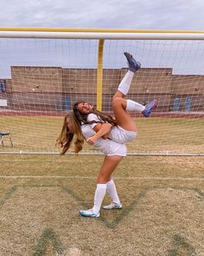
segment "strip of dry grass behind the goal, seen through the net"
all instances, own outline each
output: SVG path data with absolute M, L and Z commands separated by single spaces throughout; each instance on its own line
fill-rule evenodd
M 55 140 L 60 134 L 62 117 L 1 116 L 0 130 L 9 131 L 1 152 L 57 152 Z M 137 139 L 127 144 L 128 152 L 159 154 L 203 154 L 203 118 L 136 118 Z M 90 151 L 85 146 L 84 152 Z

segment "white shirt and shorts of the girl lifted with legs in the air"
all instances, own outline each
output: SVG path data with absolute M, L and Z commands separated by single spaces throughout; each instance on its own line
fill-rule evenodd
M 87 117 L 87 121 L 97 121 L 90 124 L 91 127 L 94 128 L 99 123 L 100 120 L 97 115 L 89 114 Z M 124 144 L 126 142 L 134 140 L 136 136 L 137 136 L 137 132 L 127 131 L 124 128 L 117 125 L 111 129 L 111 133 L 108 136 L 108 138 L 111 139 L 112 141 Z

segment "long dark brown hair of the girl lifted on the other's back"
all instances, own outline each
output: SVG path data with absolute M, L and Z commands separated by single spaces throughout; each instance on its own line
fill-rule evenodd
M 89 114 L 82 114 L 82 113 L 80 113 L 79 108 L 78 108 L 78 105 L 80 103 L 82 103 L 82 102 L 75 102 L 73 104 L 73 113 L 74 113 L 76 119 L 78 121 L 80 121 L 80 123 L 84 123 L 84 124 L 92 124 L 93 122 L 97 122 L 97 121 L 87 121 L 87 116 L 90 113 Z M 101 111 L 98 111 L 95 108 L 92 108 L 92 113 L 98 116 L 98 118 L 99 118 L 98 122 L 109 122 L 113 126 L 117 125 L 117 121 L 112 118 L 112 115 L 109 115 L 109 114 L 103 113 Z

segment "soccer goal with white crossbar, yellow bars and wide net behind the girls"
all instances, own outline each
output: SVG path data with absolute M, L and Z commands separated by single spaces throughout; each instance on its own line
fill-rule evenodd
M 5 136 L 1 154 L 58 154 L 74 102 L 112 114 L 128 51 L 142 65 L 127 98 L 158 102 L 150 118 L 131 113 L 128 154 L 204 155 L 203 31 L 0 29 L 0 46 L 0 132 L 13 144 Z

